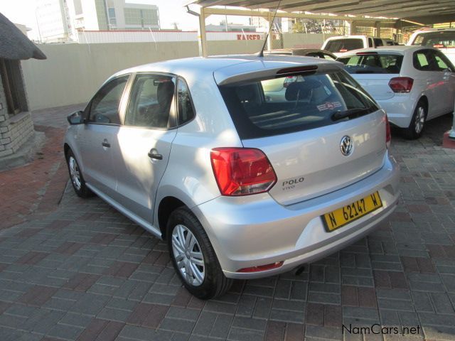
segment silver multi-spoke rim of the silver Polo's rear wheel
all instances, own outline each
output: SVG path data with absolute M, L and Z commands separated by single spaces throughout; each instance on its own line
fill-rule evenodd
M 198 240 L 186 226 L 172 232 L 172 251 L 178 270 L 188 284 L 200 286 L 205 278 L 205 263 Z

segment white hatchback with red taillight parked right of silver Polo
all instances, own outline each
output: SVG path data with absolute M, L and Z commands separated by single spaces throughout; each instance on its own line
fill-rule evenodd
M 425 46 L 387 46 L 345 53 L 337 59 L 385 109 L 407 139 L 424 123 L 454 110 L 455 67 L 441 51 Z

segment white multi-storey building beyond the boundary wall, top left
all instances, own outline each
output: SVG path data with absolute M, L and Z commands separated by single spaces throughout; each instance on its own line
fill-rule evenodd
M 77 31 L 160 28 L 158 6 L 125 0 L 37 0 L 36 21 L 45 43 L 77 41 Z

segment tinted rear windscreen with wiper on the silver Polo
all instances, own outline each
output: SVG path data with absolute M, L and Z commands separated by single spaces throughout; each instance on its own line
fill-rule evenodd
M 378 110 L 377 104 L 346 72 L 291 75 L 220 86 L 240 139 L 288 134 Z M 351 116 L 351 118 L 353 118 Z

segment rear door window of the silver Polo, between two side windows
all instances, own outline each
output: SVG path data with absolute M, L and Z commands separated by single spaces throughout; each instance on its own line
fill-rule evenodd
M 125 125 L 167 129 L 175 84 L 176 77 L 137 75 L 129 97 Z

